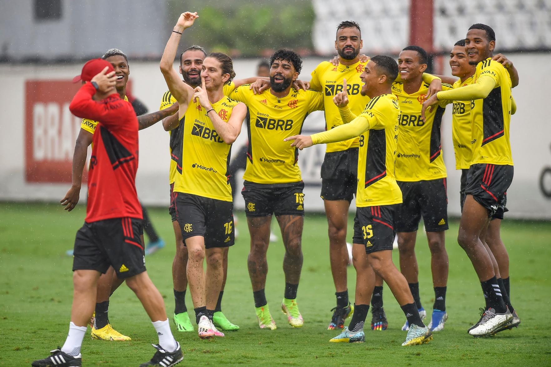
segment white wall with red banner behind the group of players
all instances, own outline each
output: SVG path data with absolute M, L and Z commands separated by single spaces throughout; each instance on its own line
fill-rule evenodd
M 510 212 L 506 215 L 515 218 L 551 219 L 551 199 L 545 198 L 539 190 L 539 175 L 542 170 L 551 167 L 551 125 L 544 115 L 548 93 L 545 84 L 539 80 L 534 70 L 543 70 L 547 55 L 543 53 L 511 55 L 511 60 L 520 71 L 520 85 L 513 90 L 518 105 L 517 114 L 512 117 L 511 145 L 515 161 L 515 179 L 507 192 Z M 301 78 L 310 79 L 310 72 L 320 59 L 304 60 Z M 237 78 L 245 78 L 256 72 L 257 60 L 236 60 Z M 0 200 L 41 200 L 59 201 L 67 191 L 69 184 L 26 182 L 25 147 L 33 141 L 25 141 L 25 81 L 26 80 L 67 80 L 79 73 L 81 65 L 66 66 L 12 66 L 0 65 Z M 141 99 L 150 111 L 160 104 L 166 90 L 158 63 L 131 62 L 131 80 L 133 94 Z M 446 68 L 447 70 L 447 68 Z M 47 91 L 45 92 L 47 93 Z M 444 160 L 448 168 L 449 213 L 459 214 L 458 191 L 460 174 L 455 170 L 455 161 L 451 142 L 451 111 L 447 111 L 442 124 L 442 144 Z M 63 111 L 60 112 L 61 116 Z M 74 145 L 74 136 L 78 132 L 73 123 L 73 130 L 60 136 L 59 144 Z M 62 123 L 61 123 L 62 124 Z M 323 114 L 310 115 L 305 122 L 304 132 L 321 131 Z M 246 139 L 242 133 L 234 144 L 239 148 Z M 145 204 L 166 206 L 168 195 L 168 154 L 169 136 L 161 125 L 155 125 L 140 132 L 140 163 L 137 176 L 138 195 Z M 235 149 L 236 150 L 236 149 Z M 67 154 L 66 154 L 67 155 Z M 319 197 L 319 166 L 323 159 L 323 148 L 310 148 L 301 152 L 299 164 L 303 179 L 306 182 L 306 210 L 323 210 Z M 70 156 L 63 164 L 70 165 Z M 547 182 L 551 191 L 551 175 Z M 80 197 L 86 197 L 83 188 Z M 242 207 L 242 198 L 236 197 L 236 206 Z

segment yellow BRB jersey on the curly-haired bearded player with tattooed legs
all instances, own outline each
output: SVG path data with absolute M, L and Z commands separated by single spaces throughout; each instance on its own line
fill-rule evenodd
M 299 150 L 283 139 L 300 134 L 310 112 L 323 110 L 323 95 L 315 90 L 294 88 L 283 98 L 274 96 L 269 89 L 255 95 L 249 85 L 242 85 L 230 94 L 249 108 L 249 150 L 243 179 L 256 184 L 301 181 Z

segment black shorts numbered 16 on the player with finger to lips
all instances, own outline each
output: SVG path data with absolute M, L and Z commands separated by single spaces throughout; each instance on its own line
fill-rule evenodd
M 206 249 L 233 246 L 233 202 L 179 192 L 175 204 L 184 245 L 187 238 L 203 236 Z

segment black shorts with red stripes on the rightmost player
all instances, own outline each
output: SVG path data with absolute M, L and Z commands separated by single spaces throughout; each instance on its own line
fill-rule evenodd
M 503 219 L 503 213 L 508 209 L 507 189 L 513 180 L 513 166 L 497 164 L 473 164 L 469 168 L 466 195 L 473 198 L 488 209 L 488 217 L 498 215 Z M 501 209 L 501 211 L 500 211 Z

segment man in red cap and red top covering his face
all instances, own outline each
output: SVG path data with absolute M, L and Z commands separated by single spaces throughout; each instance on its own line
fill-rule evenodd
M 77 232 L 73 260 L 73 306 L 67 339 L 50 357 L 33 366 L 80 366 L 80 347 L 94 311 L 101 273 L 113 267 L 136 293 L 159 336 L 157 352 L 142 364 L 172 366 L 183 359 L 170 331 L 163 297 L 145 270 L 139 233 L 142 209 L 136 195 L 138 121 L 129 102 L 117 93 L 115 71 L 106 60 L 90 60 L 78 79 L 84 85 L 69 109 L 78 117 L 98 121 L 93 138 L 88 180 L 87 216 Z

